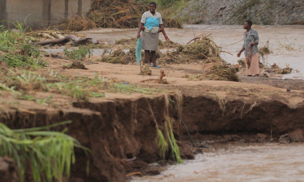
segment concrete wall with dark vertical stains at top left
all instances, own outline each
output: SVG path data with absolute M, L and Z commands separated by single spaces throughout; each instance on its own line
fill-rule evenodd
M 30 27 L 58 23 L 64 17 L 85 14 L 91 0 L 0 0 L 0 20 L 24 22 Z M 2 22 L 1 24 L 6 24 Z

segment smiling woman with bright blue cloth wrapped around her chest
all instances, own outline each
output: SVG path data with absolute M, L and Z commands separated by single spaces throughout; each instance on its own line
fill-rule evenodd
M 150 2 L 149 11 L 146 11 L 144 14 L 142 14 L 142 20 L 140 21 L 140 25 L 138 27 L 137 38 L 140 37 L 140 31 L 143 31 L 141 37 L 142 49 L 145 50 L 147 63 L 150 64 L 151 67 L 160 68 L 160 66 L 156 64 L 156 51 L 158 50 L 159 31 L 162 31 L 162 34 L 164 35 L 166 41 L 169 40 L 169 38 L 166 35 L 164 25 L 162 23 L 162 15 L 156 12 L 155 9 L 156 3 Z M 150 51 L 153 64 L 150 62 Z

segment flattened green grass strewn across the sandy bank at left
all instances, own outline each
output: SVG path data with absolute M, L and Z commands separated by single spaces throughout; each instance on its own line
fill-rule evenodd
M 10 91 L 18 96 L 19 99 L 34 100 L 43 104 L 50 102 L 51 98 L 39 100 L 30 95 L 30 93 L 43 91 L 88 101 L 90 97 L 106 97 L 104 91 L 151 95 L 161 92 L 158 89 L 116 83 L 114 80 L 106 80 L 97 74 L 95 74 L 94 78 L 82 76 L 70 78 L 58 75 L 58 72 L 54 72 L 54 70 L 49 73 L 38 74 L 30 71 L 3 69 L 0 72 L 0 80 L 0 91 Z

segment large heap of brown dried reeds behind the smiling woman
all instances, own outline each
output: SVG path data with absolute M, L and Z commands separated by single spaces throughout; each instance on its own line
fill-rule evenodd
M 146 3 L 135 0 L 93 0 L 86 15 L 68 18 L 58 28 L 71 31 L 83 31 L 96 27 L 134 28 L 138 27 L 142 14 L 146 11 Z M 163 21 L 164 26 L 182 28 L 178 20 L 163 18 Z

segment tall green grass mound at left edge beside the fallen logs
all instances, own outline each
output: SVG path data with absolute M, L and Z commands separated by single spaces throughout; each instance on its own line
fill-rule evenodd
M 10 22 L 12 23 L 12 22 Z M 13 23 L 14 24 L 14 23 Z M 18 21 L 14 24 L 18 31 L 6 30 L 0 27 L 0 59 L 10 67 L 37 68 L 48 64 L 42 60 L 40 51 L 26 42 L 26 28 Z

